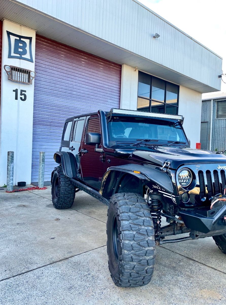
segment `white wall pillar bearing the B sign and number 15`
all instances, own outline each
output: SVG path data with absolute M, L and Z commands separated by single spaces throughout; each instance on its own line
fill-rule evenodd
M 32 156 L 32 130 L 33 130 L 33 84 L 21 84 L 8 80 L 4 65 L 18 66 L 34 71 L 34 62 L 24 59 L 8 58 L 9 42 L 7 32 L 32 37 L 32 55 L 35 57 L 35 31 L 8 20 L 3 21 L 2 39 L 2 83 L 1 83 L 1 109 L 0 109 L 0 186 L 6 184 L 7 152 L 14 152 L 14 178 L 13 184 L 18 181 L 31 182 L 31 156 Z M 16 38 L 16 37 L 15 37 Z M 12 52 L 14 52 L 14 39 L 12 37 Z M 27 41 L 28 42 L 28 41 Z M 28 49 L 27 49 L 28 51 Z M 25 55 L 28 57 L 29 54 Z M 18 99 L 15 92 L 18 90 Z M 26 100 L 20 99 L 20 90 L 26 90 Z M 22 96 L 23 99 L 23 96 Z

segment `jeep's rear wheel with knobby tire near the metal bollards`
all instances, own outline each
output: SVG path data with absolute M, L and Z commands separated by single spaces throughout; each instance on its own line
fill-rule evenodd
M 52 178 L 52 202 L 56 209 L 69 209 L 75 199 L 75 187 L 63 173 L 62 166 L 55 168 Z

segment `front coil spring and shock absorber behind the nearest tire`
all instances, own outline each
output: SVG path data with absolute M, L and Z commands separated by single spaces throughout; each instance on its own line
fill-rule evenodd
M 148 205 L 150 207 L 150 212 L 154 224 L 155 230 L 155 239 L 159 240 L 161 235 L 161 210 L 162 210 L 162 203 L 158 199 L 158 195 L 151 194 L 148 198 Z

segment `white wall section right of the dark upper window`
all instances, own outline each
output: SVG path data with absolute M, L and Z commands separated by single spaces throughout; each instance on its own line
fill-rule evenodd
M 178 114 L 184 116 L 183 128 L 191 141 L 191 148 L 200 142 L 202 94 L 180 86 Z

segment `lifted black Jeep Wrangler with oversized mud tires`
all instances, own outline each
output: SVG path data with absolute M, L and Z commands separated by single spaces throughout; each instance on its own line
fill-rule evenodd
M 182 124 L 179 115 L 123 109 L 65 121 L 53 205 L 70 208 L 79 190 L 108 205 L 108 264 L 117 286 L 150 282 L 156 244 L 213 236 L 226 253 L 226 156 L 191 149 Z

